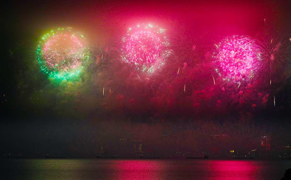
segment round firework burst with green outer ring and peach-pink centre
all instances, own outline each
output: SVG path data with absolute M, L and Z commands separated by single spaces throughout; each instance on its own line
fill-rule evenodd
M 89 51 L 83 35 L 73 33 L 71 28 L 58 28 L 42 36 L 37 59 L 49 77 L 65 79 L 78 76 L 89 59 Z

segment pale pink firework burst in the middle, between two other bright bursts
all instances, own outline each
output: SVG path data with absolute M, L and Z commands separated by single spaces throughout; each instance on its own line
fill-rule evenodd
M 123 60 L 136 70 L 148 71 L 168 46 L 164 29 L 151 24 L 131 27 L 123 37 Z M 161 67 L 161 61 L 157 68 Z

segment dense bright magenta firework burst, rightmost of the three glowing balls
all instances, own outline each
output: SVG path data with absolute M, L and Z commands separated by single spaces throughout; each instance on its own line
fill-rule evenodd
M 258 56 L 254 41 L 249 37 L 231 36 L 217 46 L 216 71 L 229 82 L 246 81 L 253 76 Z

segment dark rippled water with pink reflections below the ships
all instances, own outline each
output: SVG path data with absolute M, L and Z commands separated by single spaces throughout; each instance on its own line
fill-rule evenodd
M 276 180 L 290 160 L 3 159 L 3 179 Z M 2 178 L 1 178 L 2 179 Z

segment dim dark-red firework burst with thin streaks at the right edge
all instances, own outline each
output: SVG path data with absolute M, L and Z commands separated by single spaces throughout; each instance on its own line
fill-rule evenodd
M 270 84 L 290 73 L 291 41 L 290 35 L 269 36 L 258 40 L 259 58 L 257 60 L 258 73 L 256 78 L 270 81 Z

